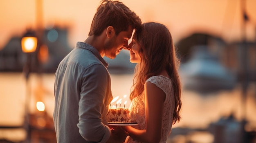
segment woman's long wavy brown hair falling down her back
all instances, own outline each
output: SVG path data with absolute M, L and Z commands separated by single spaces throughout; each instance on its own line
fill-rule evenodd
M 144 84 L 149 77 L 159 75 L 166 70 L 173 84 L 175 96 L 175 110 L 173 124 L 180 121 L 181 83 L 178 74 L 180 61 L 176 58 L 173 39 L 168 28 L 160 23 L 147 22 L 142 28 L 135 31 L 133 39 L 140 45 L 141 62 L 135 66 L 132 92 L 130 99 L 143 94 Z

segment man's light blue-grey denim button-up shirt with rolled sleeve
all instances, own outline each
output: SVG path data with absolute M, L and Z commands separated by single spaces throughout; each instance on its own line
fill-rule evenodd
M 54 126 L 58 143 L 105 143 L 105 116 L 112 100 L 108 63 L 97 49 L 77 42 L 58 65 L 54 83 Z

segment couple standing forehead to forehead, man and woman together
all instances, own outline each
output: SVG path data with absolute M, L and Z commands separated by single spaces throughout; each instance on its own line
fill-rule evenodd
M 130 62 L 137 63 L 130 116 L 139 125 L 110 130 L 105 116 L 113 97 L 103 57 L 115 58 L 123 48 L 130 51 Z M 180 94 L 175 48 L 166 26 L 141 24 L 123 3 L 103 0 L 88 38 L 76 44 L 55 73 L 57 142 L 166 143 L 172 125 L 180 121 Z

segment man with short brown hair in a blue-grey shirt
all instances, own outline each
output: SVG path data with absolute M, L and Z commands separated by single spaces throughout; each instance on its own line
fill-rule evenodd
M 61 61 L 55 73 L 54 125 L 58 143 L 121 143 L 127 134 L 110 131 L 105 116 L 112 93 L 108 63 L 127 48 L 140 18 L 123 3 L 103 0 L 88 38 Z

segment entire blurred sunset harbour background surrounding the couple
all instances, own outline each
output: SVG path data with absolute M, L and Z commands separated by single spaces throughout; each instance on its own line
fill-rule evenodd
M 120 1 L 142 22 L 163 23 L 172 33 L 183 107 L 168 143 L 256 143 L 256 1 Z M 54 73 L 87 38 L 99 4 L 0 1 L 0 143 L 56 143 Z M 31 36 L 36 41 L 24 44 Z M 124 50 L 116 59 L 104 57 L 112 94 L 126 107 L 135 67 L 129 58 Z

